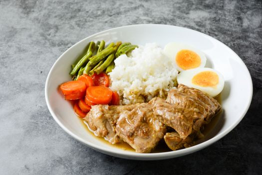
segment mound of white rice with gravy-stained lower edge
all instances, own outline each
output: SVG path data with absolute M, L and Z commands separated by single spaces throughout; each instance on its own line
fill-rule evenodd
M 178 70 L 156 43 L 134 49 L 128 57 L 114 60 L 110 88 L 121 96 L 122 104 L 149 101 L 155 96 L 165 97 L 175 85 Z

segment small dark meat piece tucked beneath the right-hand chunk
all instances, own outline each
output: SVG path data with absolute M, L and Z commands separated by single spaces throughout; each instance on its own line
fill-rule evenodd
M 164 139 L 167 146 L 172 150 L 190 147 L 194 144 L 194 136 L 189 135 L 185 139 L 182 139 L 177 132 L 167 132 Z

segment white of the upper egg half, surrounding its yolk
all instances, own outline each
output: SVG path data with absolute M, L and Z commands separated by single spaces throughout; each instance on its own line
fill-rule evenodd
M 182 43 L 176 43 L 176 42 L 170 42 L 166 44 L 164 48 L 164 53 L 175 62 L 176 68 L 178 71 L 184 71 L 182 67 L 180 67 L 176 62 L 176 55 L 180 50 L 191 50 L 197 53 L 201 59 L 201 63 L 198 67 L 204 67 L 206 65 L 207 57 L 205 53 L 203 53 L 201 50 L 194 48 L 190 45 L 182 44 Z M 198 68 L 195 67 L 195 68 Z

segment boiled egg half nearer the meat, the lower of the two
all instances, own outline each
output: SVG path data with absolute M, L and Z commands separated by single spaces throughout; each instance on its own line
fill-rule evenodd
M 180 84 L 197 88 L 211 96 L 217 96 L 224 88 L 225 80 L 223 75 L 213 68 L 193 68 L 182 71 L 177 76 Z

